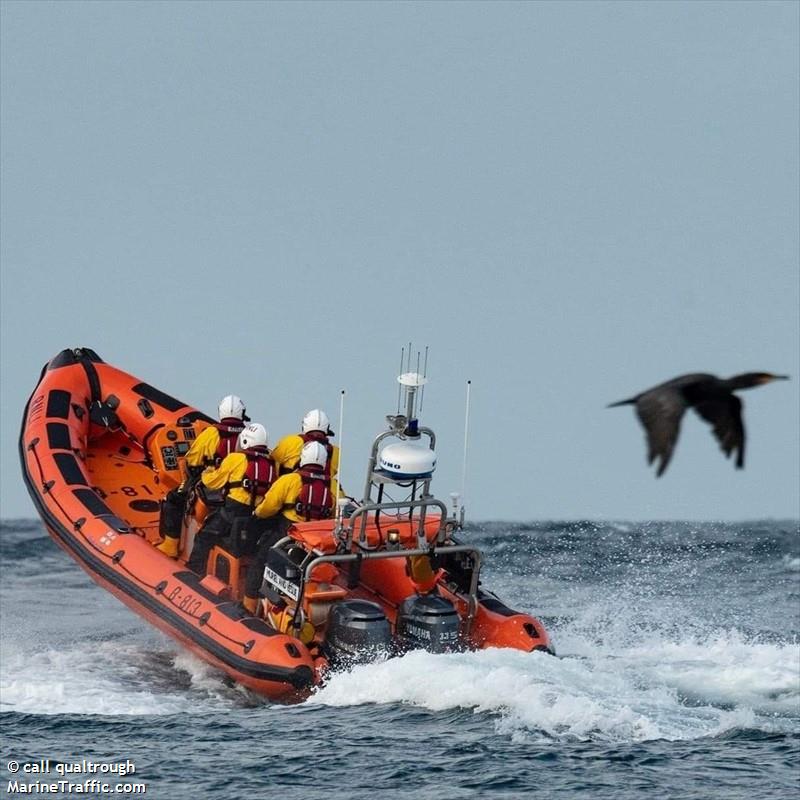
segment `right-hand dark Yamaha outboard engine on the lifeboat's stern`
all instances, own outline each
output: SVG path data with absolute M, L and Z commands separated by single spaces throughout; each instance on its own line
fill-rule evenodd
M 446 653 L 460 650 L 461 620 L 455 606 L 435 594 L 412 595 L 397 614 L 397 637 L 403 650 Z

